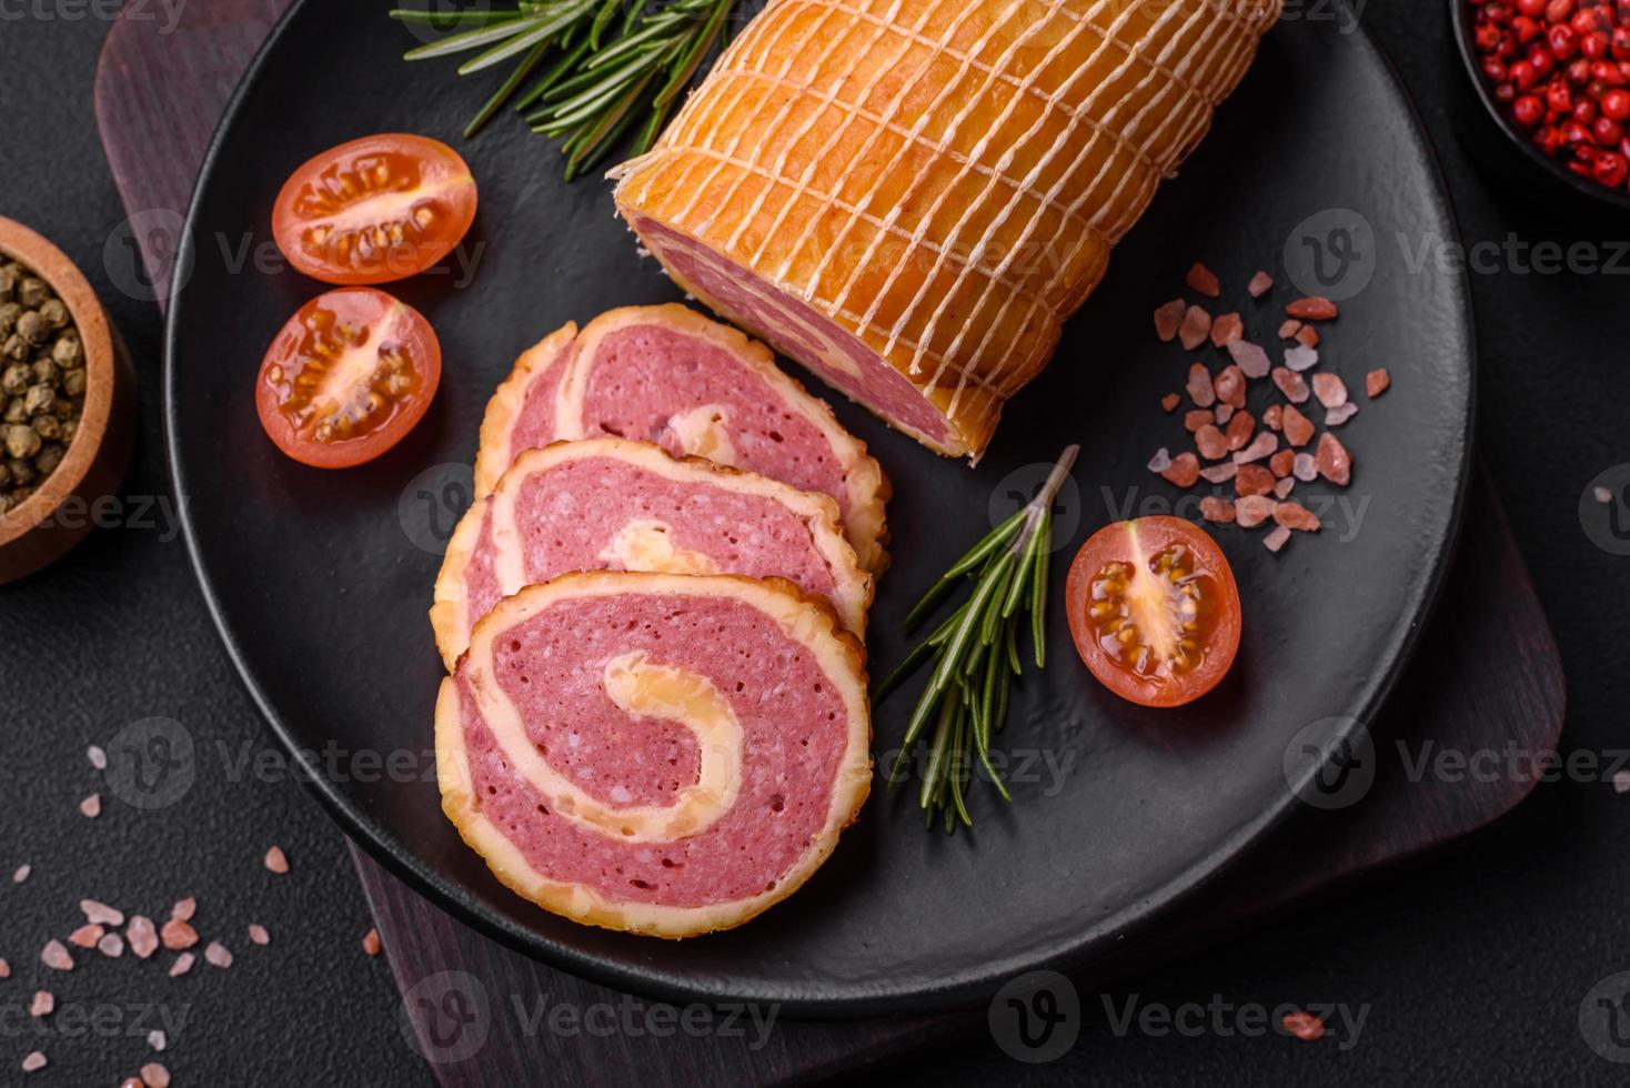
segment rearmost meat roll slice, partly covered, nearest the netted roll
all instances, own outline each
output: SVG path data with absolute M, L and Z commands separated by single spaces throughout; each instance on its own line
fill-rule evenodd
M 616 435 L 751 469 L 838 500 L 861 565 L 887 567 L 877 461 L 763 344 L 685 306 L 628 306 L 546 337 L 487 404 L 476 497 L 525 451 Z

